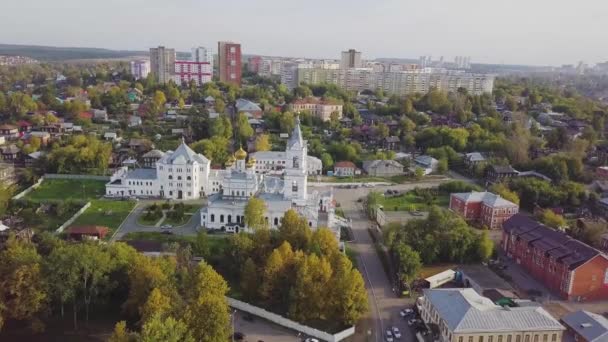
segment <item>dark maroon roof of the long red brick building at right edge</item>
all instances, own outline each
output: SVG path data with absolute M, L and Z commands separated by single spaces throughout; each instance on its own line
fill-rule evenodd
M 573 270 L 601 252 L 566 233 L 551 229 L 523 214 L 515 214 L 502 225 L 503 231 L 514 234 Z

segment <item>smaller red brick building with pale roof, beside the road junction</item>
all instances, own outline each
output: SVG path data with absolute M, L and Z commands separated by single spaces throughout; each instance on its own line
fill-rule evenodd
M 467 221 L 490 229 L 500 229 L 503 222 L 519 212 L 519 206 L 491 192 L 463 192 L 450 195 L 450 209 Z

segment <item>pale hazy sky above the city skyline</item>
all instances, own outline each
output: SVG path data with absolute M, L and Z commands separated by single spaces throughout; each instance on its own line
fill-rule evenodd
M 607 0 L 0 0 L 0 43 L 339 58 L 608 60 Z

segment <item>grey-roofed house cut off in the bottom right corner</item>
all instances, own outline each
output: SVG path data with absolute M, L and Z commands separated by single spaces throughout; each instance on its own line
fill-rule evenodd
M 602 315 L 579 310 L 564 315 L 562 322 L 577 342 L 608 341 L 608 319 Z

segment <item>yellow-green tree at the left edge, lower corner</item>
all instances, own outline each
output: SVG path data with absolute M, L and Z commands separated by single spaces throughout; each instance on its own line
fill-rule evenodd
M 32 328 L 41 326 L 36 315 L 48 301 L 41 261 L 31 242 L 9 236 L 0 252 L 0 322 L 33 319 Z

